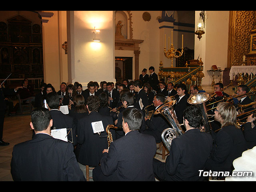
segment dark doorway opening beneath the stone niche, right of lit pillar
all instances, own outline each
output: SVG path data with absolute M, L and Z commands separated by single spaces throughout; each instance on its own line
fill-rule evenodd
M 115 78 L 117 82 L 132 80 L 132 57 L 115 57 Z

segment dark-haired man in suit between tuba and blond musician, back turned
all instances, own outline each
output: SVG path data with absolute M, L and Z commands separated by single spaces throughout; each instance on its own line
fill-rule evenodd
M 166 162 L 153 161 L 154 174 L 160 181 L 198 181 L 212 150 L 210 134 L 198 129 L 202 112 L 196 106 L 184 110 L 186 132 L 174 139 Z M 202 175 L 201 175 L 202 177 Z

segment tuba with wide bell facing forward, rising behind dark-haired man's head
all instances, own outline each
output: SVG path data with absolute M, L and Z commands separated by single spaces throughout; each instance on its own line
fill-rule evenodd
M 203 116 L 204 132 L 207 132 L 207 133 L 211 132 L 208 116 L 214 116 L 214 115 L 208 115 L 206 110 L 205 103 L 210 98 L 211 98 L 211 95 L 209 93 L 202 92 L 202 93 L 197 93 L 190 96 L 187 100 L 189 104 L 196 105 L 201 110 L 202 116 Z

